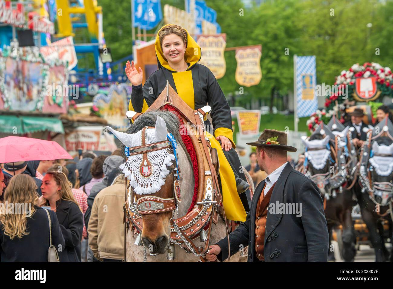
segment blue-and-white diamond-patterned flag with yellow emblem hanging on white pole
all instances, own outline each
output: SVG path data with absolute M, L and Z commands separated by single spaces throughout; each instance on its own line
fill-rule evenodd
M 315 56 L 295 56 L 296 101 L 298 118 L 310 116 L 318 109 L 315 93 L 316 61 Z

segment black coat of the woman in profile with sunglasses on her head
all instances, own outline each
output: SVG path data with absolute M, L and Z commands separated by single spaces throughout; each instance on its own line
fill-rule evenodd
M 62 252 L 59 252 L 60 261 L 80 262 L 83 214 L 79 206 L 71 201 L 59 200 L 56 202 L 56 215 L 66 242 Z

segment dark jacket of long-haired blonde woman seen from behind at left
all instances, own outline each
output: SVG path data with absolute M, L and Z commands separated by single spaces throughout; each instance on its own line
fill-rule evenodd
M 43 208 L 35 207 L 32 217 L 27 219 L 28 235 L 13 240 L 4 234 L 0 225 L 0 261 L 1 262 L 48 262 L 49 221 Z M 59 221 L 55 212 L 48 210 L 51 218 L 52 245 L 57 250 L 65 247 Z M 60 254 L 60 252 L 59 252 Z

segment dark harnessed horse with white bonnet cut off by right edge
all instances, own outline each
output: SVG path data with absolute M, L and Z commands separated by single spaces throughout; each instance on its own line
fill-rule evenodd
M 389 129 L 390 127 L 390 129 Z M 389 134 L 392 125 L 385 125 L 379 134 L 369 131 L 362 146 L 358 164 L 358 182 L 355 185 L 356 198 L 360 205 L 362 219 L 369 230 L 369 240 L 375 250 L 375 261 L 393 261 L 393 253 L 384 243 L 384 225 L 389 225 L 388 237 L 393 245 L 393 137 Z M 375 131 L 375 129 L 374 129 Z

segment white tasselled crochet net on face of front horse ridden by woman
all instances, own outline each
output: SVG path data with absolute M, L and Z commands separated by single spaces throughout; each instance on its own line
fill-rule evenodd
M 154 134 L 155 129 L 146 129 L 145 144 L 153 144 L 159 142 Z M 136 147 L 142 145 L 142 131 L 135 133 L 135 138 L 132 138 L 132 146 Z M 138 195 L 152 194 L 160 190 L 161 186 L 165 184 L 165 177 L 170 173 L 168 167 L 171 166 L 174 155 L 168 152 L 168 149 L 160 149 L 147 153 L 152 166 L 152 174 L 146 178 L 141 175 L 140 167 L 142 163 L 143 154 L 129 156 L 127 162 L 121 164 L 119 168 L 130 180 L 130 184 L 134 192 Z

